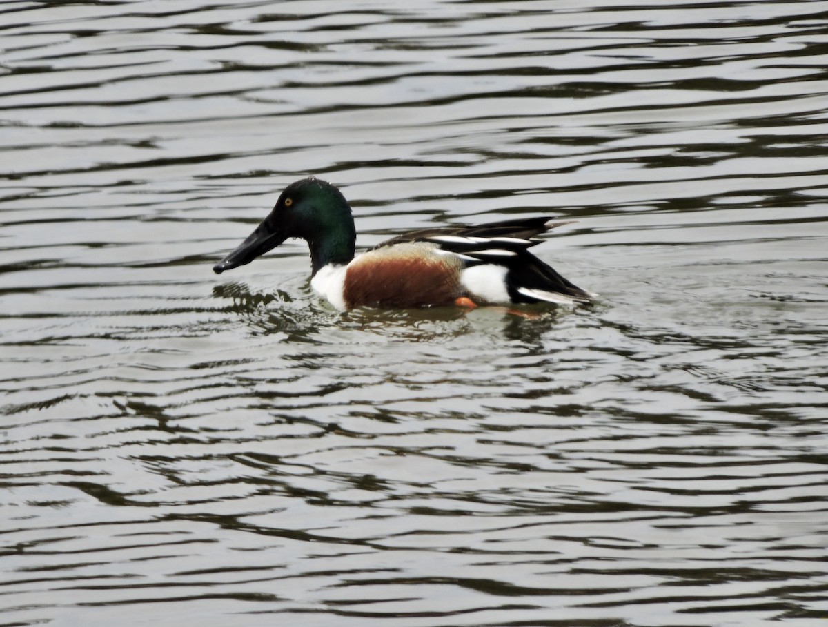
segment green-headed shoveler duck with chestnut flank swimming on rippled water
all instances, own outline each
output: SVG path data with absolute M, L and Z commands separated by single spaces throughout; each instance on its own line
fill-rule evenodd
M 213 270 L 250 263 L 288 238 L 310 248 L 310 286 L 336 309 L 589 303 L 595 296 L 528 249 L 566 222 L 548 216 L 407 232 L 359 255 L 350 205 L 310 176 L 288 185 L 262 223 Z

